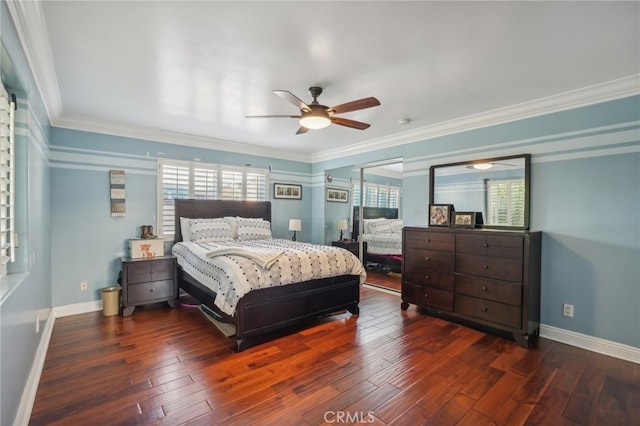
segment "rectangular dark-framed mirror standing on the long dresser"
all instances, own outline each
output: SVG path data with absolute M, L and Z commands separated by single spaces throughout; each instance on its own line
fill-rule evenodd
M 530 165 L 523 154 L 431 166 L 429 204 L 480 212 L 482 227 L 529 229 Z

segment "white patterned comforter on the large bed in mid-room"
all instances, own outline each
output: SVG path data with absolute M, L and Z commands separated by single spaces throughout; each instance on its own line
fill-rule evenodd
M 208 257 L 220 247 L 284 250 L 269 269 L 238 255 Z M 364 283 L 367 273 L 360 260 L 339 247 L 301 243 L 279 238 L 215 243 L 181 242 L 172 253 L 182 269 L 216 293 L 215 305 L 229 315 L 238 301 L 251 290 L 299 283 L 339 275 L 359 275 Z

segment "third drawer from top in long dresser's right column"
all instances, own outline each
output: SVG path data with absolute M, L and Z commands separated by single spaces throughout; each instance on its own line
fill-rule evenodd
M 520 306 L 522 303 L 522 285 L 508 281 L 456 274 L 455 291 L 456 294 L 480 297 L 515 306 Z

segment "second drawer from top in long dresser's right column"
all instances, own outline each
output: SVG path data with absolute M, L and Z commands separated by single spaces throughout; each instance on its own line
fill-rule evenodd
M 459 254 L 456 255 L 456 272 L 520 283 L 522 260 Z

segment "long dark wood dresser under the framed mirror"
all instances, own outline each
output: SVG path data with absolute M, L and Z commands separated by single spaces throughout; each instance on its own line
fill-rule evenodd
M 541 232 L 403 230 L 402 303 L 509 334 L 523 347 L 540 327 Z

